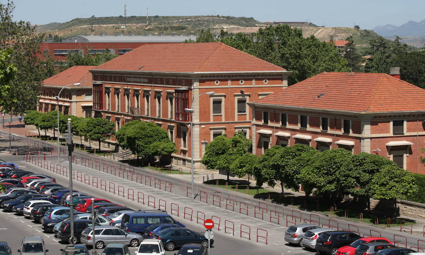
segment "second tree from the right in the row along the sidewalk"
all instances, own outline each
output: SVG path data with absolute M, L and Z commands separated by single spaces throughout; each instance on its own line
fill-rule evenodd
M 396 164 L 385 157 L 362 152 L 351 156 L 351 160 L 340 173 L 340 181 L 345 183 L 344 186 L 354 186 L 348 190 L 350 194 L 366 196 L 369 212 L 369 198 L 373 193 L 371 180 L 376 173 L 386 166 L 396 166 Z

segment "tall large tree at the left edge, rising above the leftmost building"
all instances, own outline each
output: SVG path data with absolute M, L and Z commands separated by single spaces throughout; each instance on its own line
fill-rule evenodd
M 8 64 L 14 65 L 19 73 L 9 82 L 13 89 L 8 91 L 7 100 L 2 100 L 0 107 L 17 114 L 36 108 L 45 72 L 36 55 L 43 35 L 37 34 L 29 22 L 13 21 L 14 8 L 11 1 L 0 4 L 0 48 L 12 48 Z

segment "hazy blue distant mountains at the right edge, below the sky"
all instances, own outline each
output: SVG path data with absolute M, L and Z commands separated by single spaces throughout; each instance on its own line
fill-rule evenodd
M 372 29 L 380 36 L 392 37 L 398 36 L 425 36 L 425 20 L 419 22 L 409 21 L 401 26 L 385 25 L 377 26 Z

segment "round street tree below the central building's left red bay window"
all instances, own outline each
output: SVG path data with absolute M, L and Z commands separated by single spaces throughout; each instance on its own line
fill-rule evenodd
M 115 134 L 115 123 L 103 118 L 88 118 L 85 122 L 86 136 L 99 142 L 111 138 Z

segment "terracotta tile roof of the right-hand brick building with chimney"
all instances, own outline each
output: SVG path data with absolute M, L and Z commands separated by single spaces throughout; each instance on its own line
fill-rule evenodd
M 425 111 L 425 90 L 388 74 L 324 72 L 254 102 L 358 112 Z

